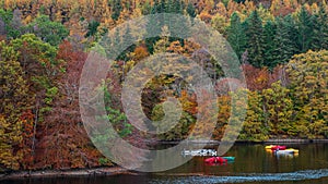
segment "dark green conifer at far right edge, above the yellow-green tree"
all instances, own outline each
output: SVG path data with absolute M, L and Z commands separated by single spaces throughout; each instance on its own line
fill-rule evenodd
M 314 16 L 313 27 L 312 48 L 316 50 L 328 49 L 328 14 L 323 5 Z

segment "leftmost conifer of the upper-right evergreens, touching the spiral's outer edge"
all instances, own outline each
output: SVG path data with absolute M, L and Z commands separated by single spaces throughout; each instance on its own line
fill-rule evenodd
M 231 23 L 227 28 L 227 41 L 231 44 L 238 58 L 241 58 L 246 49 L 247 40 L 244 27 L 241 23 L 241 17 L 237 13 L 233 13 L 231 16 Z

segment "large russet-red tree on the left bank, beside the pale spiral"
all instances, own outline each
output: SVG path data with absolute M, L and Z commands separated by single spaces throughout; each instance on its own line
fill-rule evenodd
M 65 41 L 57 58 L 66 61 L 66 73 L 58 81 L 59 95 L 54 100 L 51 113 L 38 125 L 35 167 L 97 167 L 102 155 L 91 144 L 79 109 L 79 81 L 86 53 L 73 50 L 70 42 Z

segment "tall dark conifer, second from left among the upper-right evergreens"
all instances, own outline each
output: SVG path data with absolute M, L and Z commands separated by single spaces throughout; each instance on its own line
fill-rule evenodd
M 256 68 L 263 66 L 265 63 L 265 40 L 262 21 L 255 10 L 247 20 L 247 51 L 249 63 Z

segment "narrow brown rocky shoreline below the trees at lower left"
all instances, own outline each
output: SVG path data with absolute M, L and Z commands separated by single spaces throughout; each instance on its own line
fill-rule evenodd
M 10 173 L 0 173 L 0 181 L 15 180 L 25 177 L 66 177 L 66 176 L 92 176 L 92 175 L 117 175 L 134 174 L 121 167 L 106 167 L 95 169 L 69 169 L 69 170 L 44 170 L 44 171 L 16 171 Z

